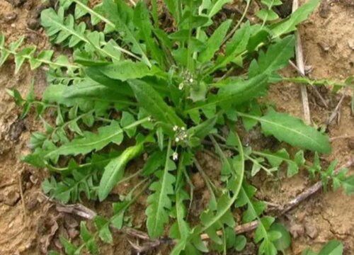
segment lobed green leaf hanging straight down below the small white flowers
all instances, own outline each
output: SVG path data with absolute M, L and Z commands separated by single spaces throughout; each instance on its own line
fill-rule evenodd
M 149 205 L 145 213 L 147 215 L 147 231 L 152 238 L 161 236 L 164 233 L 164 225 L 169 222 L 169 210 L 172 206 L 169 196 L 174 193 L 173 183 L 176 181 L 175 176 L 170 173 L 176 169 L 176 165 L 170 159 L 171 153 L 171 140 L 169 140 L 164 170 L 156 172 L 155 175 L 159 180 L 149 187 L 153 193 L 147 198 Z

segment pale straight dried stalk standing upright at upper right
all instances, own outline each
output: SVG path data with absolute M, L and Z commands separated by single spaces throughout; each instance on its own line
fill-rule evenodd
M 297 8 L 299 7 L 299 3 L 297 0 L 294 0 L 292 2 L 292 12 L 296 11 Z M 296 64 L 297 67 L 299 68 L 299 73 L 302 75 L 305 75 L 305 65 L 304 65 L 304 55 L 302 52 L 302 45 L 301 45 L 301 38 L 298 32 L 295 32 L 296 36 L 296 46 L 295 46 L 295 52 L 296 52 Z M 306 85 L 301 85 L 301 98 L 302 98 L 302 108 L 304 110 L 304 120 L 307 124 L 311 124 L 311 115 L 309 111 L 309 96 L 307 96 L 307 89 Z

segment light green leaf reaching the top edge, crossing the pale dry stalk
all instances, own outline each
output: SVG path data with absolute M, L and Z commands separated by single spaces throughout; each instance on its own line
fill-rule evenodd
M 319 0 L 310 0 L 306 4 L 300 6 L 285 21 L 275 23 L 273 26 L 270 26 L 270 29 L 273 33 L 273 38 L 278 38 L 280 35 L 284 35 L 285 33 L 290 33 L 296 30 L 297 24 L 302 23 L 302 21 L 305 21 L 312 13 L 312 11 L 314 11 L 314 8 L 318 6 L 318 4 Z

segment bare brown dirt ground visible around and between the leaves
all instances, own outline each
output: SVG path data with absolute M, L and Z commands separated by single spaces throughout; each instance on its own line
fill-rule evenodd
M 5 0 L 0 0 L 0 31 L 6 35 L 7 42 L 25 35 L 26 44 L 48 47 L 42 30 L 30 30 L 33 17 L 37 14 L 40 1 L 25 1 L 20 8 L 15 8 Z M 11 19 L 15 14 L 16 18 Z M 11 16 L 12 15 L 12 16 Z M 323 1 L 321 8 L 300 28 L 306 64 L 312 67 L 309 77 L 345 79 L 354 74 L 354 4 L 352 1 Z M 46 254 L 47 247 L 60 246 L 58 234 L 77 236 L 78 218 L 56 212 L 55 206 L 40 196 L 40 182 L 45 171 L 33 169 L 21 163 L 21 155 L 29 152 L 26 147 L 30 132 L 38 129 L 39 123 L 30 115 L 19 120 L 21 109 L 15 106 L 13 99 L 6 94 L 6 89 L 18 89 L 22 94 L 28 91 L 30 82 L 35 79 L 35 94 L 45 88 L 43 70 L 30 72 L 28 66 L 20 74 L 14 75 L 14 64 L 6 62 L 0 68 L 0 254 Z M 284 74 L 295 75 L 288 68 Z M 331 95 L 326 89 L 319 90 L 330 108 L 321 105 L 313 90 L 309 90 L 312 120 L 317 125 L 325 123 L 331 109 L 338 103 L 341 95 Z M 278 84 L 270 89 L 270 101 L 280 111 L 302 117 L 299 86 L 295 84 Z M 350 96 L 346 96 L 341 107 L 341 118 L 329 127 L 329 135 L 338 137 L 348 135 L 352 138 L 337 139 L 332 142 L 333 152 L 323 158 L 327 163 L 338 159 L 343 164 L 354 155 L 354 122 L 350 113 Z M 217 172 L 219 164 L 207 154 L 201 155 L 202 164 L 207 173 Z M 354 169 L 351 169 L 353 173 Z M 193 177 L 198 180 L 198 175 Z M 21 181 L 21 182 L 20 182 Z M 260 176 L 254 183 L 260 189 L 258 197 L 282 204 L 307 188 L 311 181 L 307 173 L 281 182 L 264 181 Z M 198 184 L 199 185 L 199 184 Z M 200 189 L 204 187 L 200 183 Z M 23 196 L 21 195 L 21 189 Z M 208 198 L 205 192 L 198 193 L 200 202 L 193 205 L 201 208 Z M 23 203 L 24 201 L 24 203 Z M 95 206 L 95 210 L 104 214 L 108 204 Z M 343 194 L 321 193 L 299 205 L 281 220 L 292 229 L 297 237 L 292 239 L 288 254 L 299 254 L 306 246 L 318 249 L 330 239 L 339 239 L 345 246 L 345 254 L 354 254 L 354 199 Z M 132 208 L 135 214 L 134 225 L 144 225 L 144 199 Z M 198 215 L 198 212 L 196 213 Z M 252 246 L 250 253 L 256 254 Z M 130 244 L 123 235 L 115 234 L 115 243 L 102 249 L 103 254 L 132 254 Z M 158 254 L 153 252 L 152 254 Z M 166 254 L 161 251 L 160 254 Z

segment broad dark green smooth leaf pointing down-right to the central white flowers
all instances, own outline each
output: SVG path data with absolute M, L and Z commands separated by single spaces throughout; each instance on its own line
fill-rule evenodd
M 171 106 L 165 103 L 159 93 L 147 82 L 140 80 L 129 81 L 139 105 L 150 113 L 156 120 L 178 127 L 185 127 L 183 120 L 178 117 Z

